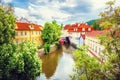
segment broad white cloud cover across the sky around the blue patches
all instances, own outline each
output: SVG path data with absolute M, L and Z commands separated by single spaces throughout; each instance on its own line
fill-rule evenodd
M 10 0 L 9 0 L 10 1 Z M 92 10 L 89 13 L 78 13 L 71 14 L 67 11 L 63 11 L 61 7 L 76 7 L 79 5 L 77 0 L 66 0 L 65 2 L 60 2 L 59 0 L 35 0 L 36 3 L 29 3 L 28 9 L 22 9 L 15 7 L 15 15 L 20 17 L 25 17 L 28 20 L 44 24 L 46 21 L 57 20 L 60 23 L 69 22 L 70 20 L 87 21 L 90 19 L 98 18 L 99 12 L 104 11 L 105 2 L 109 0 L 88 0 L 87 3 L 92 5 Z M 39 5 L 39 3 L 44 2 L 44 5 Z M 117 5 L 120 4 L 120 0 L 117 0 Z M 76 18 L 76 19 L 75 19 Z M 74 22 L 76 22 L 74 21 Z

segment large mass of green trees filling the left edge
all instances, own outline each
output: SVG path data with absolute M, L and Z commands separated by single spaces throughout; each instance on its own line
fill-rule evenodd
M 40 75 L 37 47 L 25 42 L 15 45 L 15 17 L 0 6 L 0 80 L 34 80 Z

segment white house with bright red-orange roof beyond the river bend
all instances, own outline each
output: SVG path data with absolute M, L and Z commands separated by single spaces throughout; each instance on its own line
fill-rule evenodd
M 75 23 L 65 25 L 64 30 L 76 45 L 83 45 L 86 32 L 91 32 L 93 28 L 86 23 Z

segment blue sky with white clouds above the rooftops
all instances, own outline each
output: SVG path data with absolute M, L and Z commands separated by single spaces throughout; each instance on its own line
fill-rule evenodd
M 15 16 L 44 25 L 56 20 L 59 24 L 72 24 L 98 19 L 110 0 L 2 0 L 12 3 Z M 116 5 L 120 0 L 116 0 Z

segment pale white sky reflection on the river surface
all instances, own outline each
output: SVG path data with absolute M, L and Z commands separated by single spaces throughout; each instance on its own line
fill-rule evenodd
M 58 66 L 55 74 L 50 78 L 50 80 L 70 80 L 69 74 L 71 74 L 74 61 L 71 54 L 63 52 L 62 57 L 58 62 Z

